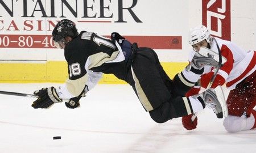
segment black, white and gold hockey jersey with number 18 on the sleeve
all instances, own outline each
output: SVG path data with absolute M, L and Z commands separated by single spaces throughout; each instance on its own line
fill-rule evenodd
M 126 80 L 125 56 L 118 43 L 93 32 L 82 31 L 68 42 L 64 51 L 68 62 L 69 79 L 57 88 L 62 99 L 69 99 L 91 90 L 101 79 L 102 73 L 114 74 Z

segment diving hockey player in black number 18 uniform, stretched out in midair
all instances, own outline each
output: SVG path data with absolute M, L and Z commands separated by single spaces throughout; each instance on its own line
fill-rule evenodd
M 214 91 L 207 90 L 197 96 L 185 93 L 203 73 L 201 65 L 189 66 L 171 80 L 160 65 L 151 48 L 137 47 L 118 33 L 106 39 L 93 32 L 77 32 L 71 20 L 61 20 L 52 31 L 53 41 L 64 49 L 68 63 L 69 79 L 60 87 L 42 88 L 34 94 L 39 98 L 33 108 L 49 108 L 62 99 L 70 99 L 68 108 L 80 106 L 79 100 L 101 79 L 102 73 L 114 74 L 129 83 L 144 109 L 158 123 L 186 116 L 214 106 L 214 113 L 221 113 L 220 102 Z

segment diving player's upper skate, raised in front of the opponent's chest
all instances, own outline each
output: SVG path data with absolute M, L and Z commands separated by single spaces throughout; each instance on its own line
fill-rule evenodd
M 226 58 L 223 56 L 221 57 L 222 57 L 221 65 L 223 65 L 226 62 Z M 219 63 L 219 54 L 204 46 L 200 48 L 199 52 L 196 52 L 195 56 L 191 61 L 191 65 L 197 69 L 200 69 L 200 67 L 203 67 L 204 65 L 217 67 L 218 63 Z

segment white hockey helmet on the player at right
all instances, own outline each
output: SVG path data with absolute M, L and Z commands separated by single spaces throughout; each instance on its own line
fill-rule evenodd
M 211 44 L 210 31 L 204 25 L 197 25 L 195 28 L 190 29 L 188 35 L 188 42 L 191 45 L 195 45 L 203 40 L 206 40 Z

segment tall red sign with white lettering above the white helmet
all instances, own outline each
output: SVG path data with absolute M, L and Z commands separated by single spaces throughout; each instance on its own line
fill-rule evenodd
M 230 0 L 202 0 L 202 17 L 213 36 L 231 40 Z

